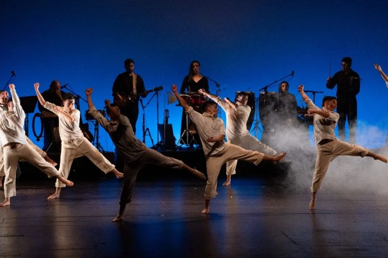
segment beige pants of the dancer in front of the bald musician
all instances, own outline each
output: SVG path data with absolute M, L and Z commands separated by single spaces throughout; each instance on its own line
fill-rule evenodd
M 85 137 L 63 140 L 61 147 L 61 164 L 59 165 L 59 172 L 66 179 L 69 176 L 71 164 L 73 160 L 82 156 L 86 156 L 101 169 L 105 174 L 112 171 L 114 165 L 107 160 L 104 155 L 97 150 Z M 57 180 L 55 187 L 65 187 L 63 182 Z

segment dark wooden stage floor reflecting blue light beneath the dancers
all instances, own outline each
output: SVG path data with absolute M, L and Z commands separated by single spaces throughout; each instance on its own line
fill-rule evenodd
M 53 180 L 21 181 L 0 208 L 0 257 L 386 257 L 388 197 L 289 189 L 282 179 L 237 175 L 218 184 L 203 215 L 205 181 L 140 179 L 125 221 L 121 181 L 75 181 L 47 200 Z M 2 195 L 2 191 L 0 193 Z M 2 199 L 2 197 L 1 197 Z

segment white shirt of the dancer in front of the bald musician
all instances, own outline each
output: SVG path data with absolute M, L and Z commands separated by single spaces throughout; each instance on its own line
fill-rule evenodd
M 62 110 L 69 116 L 74 117 L 73 122 L 68 121 L 64 114 L 57 111 L 55 104 L 46 101 L 45 108 L 55 113 L 59 118 L 59 136 L 61 137 L 61 140 L 66 141 L 82 138 L 83 134 L 80 129 L 80 110 L 73 109 L 71 112 L 67 112 L 65 111 L 64 107 L 58 107 L 62 108 Z

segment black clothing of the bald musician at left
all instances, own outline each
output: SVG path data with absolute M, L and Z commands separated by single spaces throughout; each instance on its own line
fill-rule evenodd
M 65 91 L 61 91 L 61 95 L 65 94 Z M 45 99 L 45 101 L 48 101 L 50 103 L 53 103 L 57 106 L 63 106 L 63 100 L 61 96 L 57 94 L 56 91 L 43 91 L 42 96 Z M 38 108 L 39 111 L 46 111 L 48 113 L 52 113 L 50 110 L 44 108 L 44 106 L 40 105 L 38 101 Z M 54 113 L 52 113 L 54 114 Z M 43 129 L 44 129 L 44 143 L 43 143 L 43 150 L 46 150 L 46 152 L 60 152 L 61 148 L 57 145 L 57 142 L 59 142 L 59 139 L 54 138 L 54 129 L 59 127 L 59 119 L 58 117 L 44 117 L 43 120 Z M 55 130 L 57 130 L 55 129 Z M 51 145 L 51 146 L 50 146 Z

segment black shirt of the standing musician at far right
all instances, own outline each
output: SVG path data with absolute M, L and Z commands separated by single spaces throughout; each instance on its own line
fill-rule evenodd
M 334 89 L 337 84 L 337 97 L 351 96 L 355 97 L 360 92 L 360 76 L 350 69 L 346 74 L 344 71 L 337 72 L 333 78 L 326 83 L 328 89 Z

